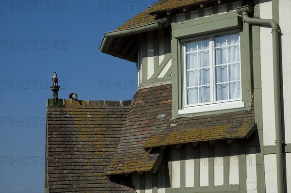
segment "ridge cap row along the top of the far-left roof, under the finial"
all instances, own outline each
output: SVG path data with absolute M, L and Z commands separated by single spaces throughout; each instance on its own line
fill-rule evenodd
M 53 99 L 48 99 L 48 101 Z M 57 103 L 63 103 L 62 107 L 65 108 L 78 108 L 78 107 L 130 107 L 132 100 L 72 100 L 72 99 L 59 99 Z M 48 104 L 48 108 L 60 108 L 56 103 Z

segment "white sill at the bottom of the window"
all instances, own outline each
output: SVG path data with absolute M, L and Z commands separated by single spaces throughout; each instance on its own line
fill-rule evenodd
M 208 111 L 219 111 L 225 109 L 235 109 L 244 107 L 244 102 L 242 100 L 201 105 L 196 107 L 185 107 L 184 109 L 178 110 L 178 114 L 188 114 L 188 113 L 201 113 Z

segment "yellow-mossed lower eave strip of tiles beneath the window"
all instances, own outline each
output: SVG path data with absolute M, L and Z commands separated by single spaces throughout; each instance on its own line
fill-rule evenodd
M 168 145 L 199 144 L 235 139 L 247 139 L 257 129 L 256 124 L 234 123 L 207 128 L 165 128 L 156 130 L 146 141 L 144 148 L 164 147 Z

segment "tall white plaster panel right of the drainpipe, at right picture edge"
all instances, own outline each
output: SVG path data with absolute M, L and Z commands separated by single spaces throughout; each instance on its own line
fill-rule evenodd
M 282 76 L 285 117 L 285 143 L 291 143 L 291 0 L 279 0 L 279 22 L 282 32 Z M 291 192 L 291 190 L 290 190 Z

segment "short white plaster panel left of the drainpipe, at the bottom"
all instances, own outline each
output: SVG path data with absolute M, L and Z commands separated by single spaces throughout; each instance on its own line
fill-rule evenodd
M 266 193 L 277 192 L 276 154 L 264 155 Z

